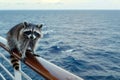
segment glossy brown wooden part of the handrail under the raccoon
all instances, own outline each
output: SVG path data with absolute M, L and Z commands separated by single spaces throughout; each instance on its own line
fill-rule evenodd
M 17 49 L 14 49 L 13 52 L 9 50 L 9 48 L 0 42 L 0 46 L 5 49 L 9 54 L 15 56 L 17 59 L 21 60 L 21 55 Z M 42 75 L 47 80 L 58 80 L 54 75 L 52 75 L 30 51 L 26 51 L 26 58 L 23 61 L 26 65 L 28 65 L 31 69 L 37 72 L 39 75 Z

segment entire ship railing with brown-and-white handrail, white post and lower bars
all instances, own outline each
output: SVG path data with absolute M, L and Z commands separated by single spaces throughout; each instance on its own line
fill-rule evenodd
M 3 44 L 4 43 L 4 44 Z M 15 50 L 12 53 L 10 52 L 9 48 L 6 46 L 7 40 L 0 36 L 0 46 L 7 51 L 10 55 L 14 55 L 19 60 L 21 59 L 20 53 Z M 7 61 L 10 65 L 10 60 L 0 53 L 0 57 L 3 58 L 5 61 Z M 2 61 L 2 60 L 0 60 Z M 20 61 L 22 62 L 22 61 Z M 19 64 L 20 64 L 19 62 Z M 42 57 L 35 57 L 30 52 L 26 52 L 26 58 L 25 61 L 23 61 L 24 64 L 29 66 L 32 70 L 37 72 L 39 75 L 41 75 L 45 80 L 84 80 L 81 77 L 78 77 L 69 71 L 66 71 L 65 69 L 43 59 Z M 26 73 L 24 73 L 21 70 L 21 64 L 19 65 L 20 70 L 14 69 L 14 75 L 12 75 L 13 72 L 9 72 L 9 70 L 0 62 L 0 67 L 13 79 L 13 80 L 22 80 L 22 78 L 26 78 L 27 80 L 32 80 Z M 3 80 L 6 80 L 2 72 L 0 72 L 0 77 Z

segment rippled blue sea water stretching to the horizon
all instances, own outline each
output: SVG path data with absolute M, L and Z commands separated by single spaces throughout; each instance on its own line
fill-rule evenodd
M 120 80 L 119 10 L 1 10 L 0 36 L 24 21 L 44 24 L 41 57 L 85 80 Z M 22 65 L 33 80 L 43 80 Z

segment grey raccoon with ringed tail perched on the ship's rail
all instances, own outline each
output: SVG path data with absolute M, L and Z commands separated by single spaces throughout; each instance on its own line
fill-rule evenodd
M 35 54 L 36 43 L 41 38 L 42 24 L 36 25 L 32 23 L 19 23 L 10 29 L 7 33 L 7 43 L 11 51 L 17 49 L 22 55 L 22 59 L 26 57 L 26 51 Z M 18 59 L 11 55 L 11 63 L 16 70 L 19 70 Z

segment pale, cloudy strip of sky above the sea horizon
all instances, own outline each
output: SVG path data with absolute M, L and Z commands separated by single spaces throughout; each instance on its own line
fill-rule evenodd
M 0 10 L 120 9 L 120 0 L 0 0 Z

